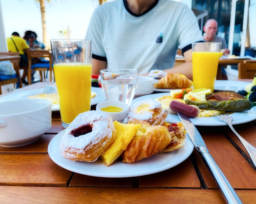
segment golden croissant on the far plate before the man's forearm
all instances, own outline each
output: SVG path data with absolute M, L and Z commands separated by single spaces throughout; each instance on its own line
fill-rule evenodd
M 193 82 L 183 74 L 167 73 L 165 77 L 154 84 L 154 88 L 190 88 Z

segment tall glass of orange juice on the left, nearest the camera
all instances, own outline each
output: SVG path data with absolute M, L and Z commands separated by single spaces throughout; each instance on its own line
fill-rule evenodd
M 62 126 L 91 109 L 91 40 L 50 40 Z

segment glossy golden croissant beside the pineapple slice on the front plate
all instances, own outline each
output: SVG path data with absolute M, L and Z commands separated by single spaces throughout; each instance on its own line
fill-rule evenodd
M 141 127 L 123 152 L 123 162 L 133 163 L 158 154 L 171 141 L 165 126 L 151 126 L 148 122 L 137 119 L 132 119 L 129 123 L 141 124 Z

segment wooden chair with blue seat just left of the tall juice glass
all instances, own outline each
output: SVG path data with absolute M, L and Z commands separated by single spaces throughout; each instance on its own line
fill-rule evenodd
M 27 50 L 28 55 L 28 67 L 33 71 L 39 71 L 41 82 L 45 79 L 45 71 L 50 71 L 50 81 L 52 81 L 52 72 L 53 72 L 53 65 L 52 65 L 52 56 L 50 50 Z M 36 63 L 32 65 L 32 58 L 45 58 L 48 57 L 49 61 L 43 63 Z M 43 77 L 44 75 L 44 77 Z M 47 76 L 47 74 L 46 74 Z M 54 73 L 53 73 L 54 77 Z M 28 84 L 31 84 L 31 72 L 28 72 Z

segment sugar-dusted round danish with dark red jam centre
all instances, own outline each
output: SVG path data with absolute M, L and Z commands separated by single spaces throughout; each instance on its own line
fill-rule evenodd
M 116 129 L 110 116 L 99 111 L 80 113 L 61 138 L 60 152 L 68 159 L 92 162 L 114 142 Z

